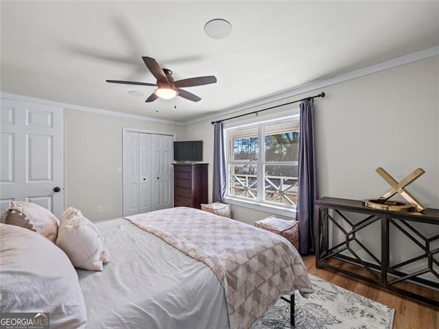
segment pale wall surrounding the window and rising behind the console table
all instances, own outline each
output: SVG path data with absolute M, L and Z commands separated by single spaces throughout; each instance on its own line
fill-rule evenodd
M 320 197 L 378 197 L 389 186 L 375 173 L 377 167 L 383 167 L 396 180 L 421 167 L 426 173 L 407 189 L 425 206 L 439 208 L 438 80 L 439 57 L 436 56 L 263 107 L 287 103 L 320 91 L 327 93 L 326 97 L 314 102 Z M 279 108 L 265 113 L 272 114 L 281 109 L 285 110 Z M 211 200 L 211 120 L 185 127 L 182 138 L 204 141 Z M 268 215 L 237 206 L 232 210 L 235 219 L 246 223 L 254 223 Z

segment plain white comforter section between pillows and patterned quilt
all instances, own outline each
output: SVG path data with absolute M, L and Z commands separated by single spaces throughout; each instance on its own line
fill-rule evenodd
M 111 260 L 102 272 L 78 269 L 87 328 L 229 328 L 224 289 L 209 267 L 126 219 L 97 228 Z

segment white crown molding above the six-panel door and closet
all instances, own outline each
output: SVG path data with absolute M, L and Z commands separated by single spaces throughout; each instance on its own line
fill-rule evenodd
M 48 99 L 27 97 L 27 96 L 23 96 L 23 95 L 0 93 L 0 97 L 4 98 L 4 99 L 12 99 L 14 101 L 27 101 L 29 103 L 37 103 L 37 104 L 44 104 L 44 105 L 51 105 L 51 106 L 60 106 L 62 108 L 69 108 L 71 110 L 91 112 L 91 113 L 95 113 L 95 114 L 111 115 L 113 117 L 123 117 L 126 119 L 143 120 L 143 121 L 151 121 L 151 122 L 158 122 L 158 123 L 167 123 L 170 125 L 186 125 L 186 123 L 179 122 L 179 121 L 170 121 L 170 120 L 157 119 L 157 118 L 152 118 L 152 117 L 143 117 L 141 115 L 136 115 L 136 114 L 128 114 L 128 113 L 122 113 L 122 112 L 102 110 L 99 108 L 89 108 L 87 106 L 80 106 L 80 105 L 74 105 L 74 104 L 69 104 L 69 103 L 61 103 L 59 101 L 49 101 Z

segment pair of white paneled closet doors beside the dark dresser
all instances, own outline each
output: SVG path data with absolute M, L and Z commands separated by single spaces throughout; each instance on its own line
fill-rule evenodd
M 123 216 L 173 206 L 173 150 L 173 136 L 123 132 Z

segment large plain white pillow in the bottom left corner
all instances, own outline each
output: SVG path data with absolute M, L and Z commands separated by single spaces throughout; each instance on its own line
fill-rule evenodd
M 84 296 L 66 254 L 14 225 L 0 223 L 0 241 L 0 313 L 49 313 L 51 329 L 85 328 Z

